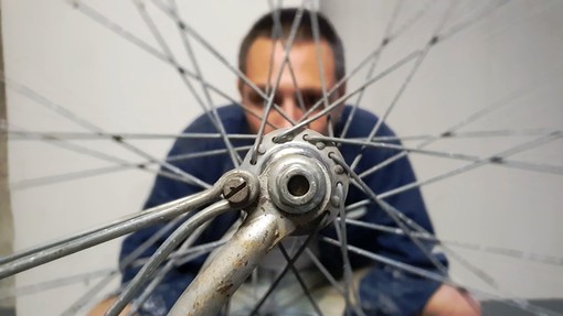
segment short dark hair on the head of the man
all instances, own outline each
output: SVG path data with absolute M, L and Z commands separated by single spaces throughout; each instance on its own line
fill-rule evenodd
M 241 48 L 238 51 L 238 69 L 243 74 L 246 74 L 246 57 L 254 41 L 263 36 L 268 39 L 274 37 L 287 40 L 289 37 L 291 24 L 294 23 L 294 19 L 299 9 L 295 8 L 278 9 L 264 14 L 258 19 L 258 21 L 254 23 L 246 36 L 244 36 L 244 40 L 241 43 Z M 334 55 L 334 76 L 338 81 L 346 75 L 344 47 L 340 36 L 334 31 L 332 23 L 330 23 L 330 21 L 325 15 L 319 12 L 311 13 L 309 10 L 304 10 L 295 41 L 315 41 L 311 21 L 314 14 L 317 15 L 319 37 L 327 41 L 332 48 L 332 54 Z M 279 25 L 282 26 L 280 30 L 276 28 L 277 19 L 279 19 Z M 274 28 L 276 28 L 276 30 Z

